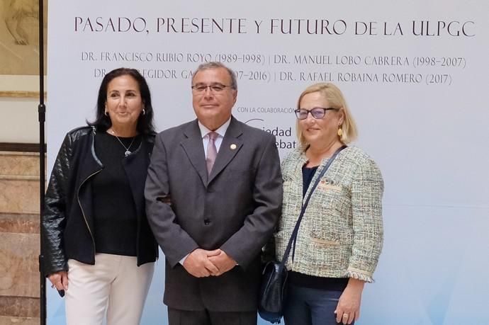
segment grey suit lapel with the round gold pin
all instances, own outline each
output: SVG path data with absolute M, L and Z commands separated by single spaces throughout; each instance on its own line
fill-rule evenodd
M 210 171 L 208 183 L 213 181 L 215 176 L 218 176 L 225 166 L 227 166 L 227 164 L 229 164 L 236 156 L 237 152 L 240 151 L 242 147 L 242 139 L 240 139 L 240 135 L 242 135 L 242 133 L 239 122 L 237 122 L 235 118 L 231 118 L 223 142 L 220 144 L 218 156 L 215 158 L 213 169 Z M 206 169 L 205 166 L 204 169 Z

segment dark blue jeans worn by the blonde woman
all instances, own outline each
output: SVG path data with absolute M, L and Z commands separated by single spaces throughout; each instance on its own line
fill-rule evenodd
M 337 325 L 335 309 L 342 291 L 288 285 L 283 319 L 286 325 Z M 352 322 L 354 324 L 354 322 Z

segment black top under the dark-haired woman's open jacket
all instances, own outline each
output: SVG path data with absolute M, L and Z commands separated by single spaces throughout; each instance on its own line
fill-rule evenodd
M 137 215 L 123 159 L 126 150 L 132 152 L 140 146 L 141 139 L 141 135 L 119 138 L 106 132 L 95 135 L 96 156 L 103 164 L 93 180 L 97 253 L 137 255 Z

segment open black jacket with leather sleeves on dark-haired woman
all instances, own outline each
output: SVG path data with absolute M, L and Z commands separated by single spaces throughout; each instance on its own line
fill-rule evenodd
M 41 223 L 46 275 L 68 270 L 68 258 L 95 263 L 91 179 L 103 169 L 95 154 L 95 132 L 94 127 L 68 132 L 57 154 Z M 154 136 L 143 137 L 140 147 L 123 160 L 137 212 L 137 266 L 154 262 L 158 254 L 144 198 L 153 143 Z

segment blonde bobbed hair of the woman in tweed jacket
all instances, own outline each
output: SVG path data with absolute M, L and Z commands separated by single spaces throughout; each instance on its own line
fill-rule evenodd
M 339 139 L 344 144 L 349 144 L 350 142 L 356 139 L 358 135 L 356 131 L 355 121 L 350 113 L 350 110 L 347 105 L 347 101 L 344 99 L 342 91 L 339 90 L 337 86 L 331 83 L 321 82 L 319 84 L 313 84 L 308 86 L 299 96 L 297 101 L 297 108 L 300 108 L 300 101 L 302 98 L 308 93 L 320 93 L 328 103 L 330 103 L 330 107 L 342 109 L 344 113 L 344 120 L 342 123 L 342 137 Z M 296 122 L 296 130 L 297 130 L 297 138 L 300 143 L 300 147 L 302 149 L 307 149 L 309 144 L 305 141 L 305 137 L 302 134 L 302 130 L 300 129 L 299 120 Z

